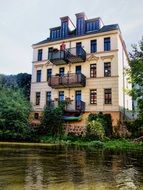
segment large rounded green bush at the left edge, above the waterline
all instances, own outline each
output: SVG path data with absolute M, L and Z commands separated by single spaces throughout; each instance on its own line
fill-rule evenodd
M 20 91 L 0 87 L 0 139 L 25 140 L 30 111 L 31 105 Z

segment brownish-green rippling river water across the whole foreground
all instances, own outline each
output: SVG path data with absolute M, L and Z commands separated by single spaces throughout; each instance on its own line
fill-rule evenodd
M 0 190 L 143 190 L 143 152 L 0 146 Z

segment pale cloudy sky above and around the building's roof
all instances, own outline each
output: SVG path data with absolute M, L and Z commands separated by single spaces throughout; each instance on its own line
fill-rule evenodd
M 78 12 L 118 23 L 129 51 L 143 36 L 143 0 L 0 0 L 0 73 L 31 73 L 31 45 Z

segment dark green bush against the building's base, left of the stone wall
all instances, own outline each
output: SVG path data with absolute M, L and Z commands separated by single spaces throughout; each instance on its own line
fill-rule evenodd
M 61 136 L 63 134 L 63 109 L 45 107 L 41 118 L 41 134 Z

